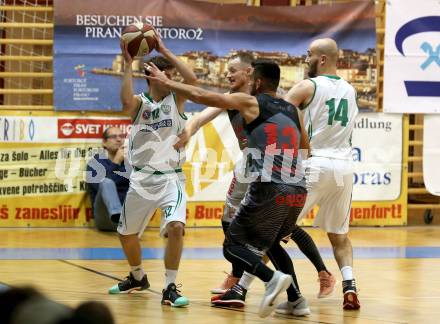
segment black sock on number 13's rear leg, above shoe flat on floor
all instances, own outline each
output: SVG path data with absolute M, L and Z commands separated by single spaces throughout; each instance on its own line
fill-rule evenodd
M 287 288 L 287 299 L 289 301 L 295 301 L 301 297 L 292 259 L 290 259 L 290 256 L 286 250 L 281 247 L 280 243 L 275 243 L 272 245 L 269 251 L 267 251 L 267 256 L 277 270 L 292 276 L 294 284 Z

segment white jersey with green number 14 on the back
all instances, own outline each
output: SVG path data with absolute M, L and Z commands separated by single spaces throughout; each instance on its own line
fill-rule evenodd
M 356 90 L 344 79 L 321 75 L 304 112 L 312 156 L 352 160 L 351 134 L 358 114 Z

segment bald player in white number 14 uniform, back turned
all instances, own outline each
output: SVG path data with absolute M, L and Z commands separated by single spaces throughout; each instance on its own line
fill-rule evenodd
M 355 310 L 360 303 L 353 277 L 353 249 L 347 234 L 353 191 L 351 134 L 358 107 L 356 90 L 336 75 L 337 60 L 334 40 L 313 41 L 306 59 L 310 79 L 293 86 L 285 99 L 304 109 L 311 147 L 309 194 L 298 220 L 319 205 L 314 224 L 327 232 L 341 270 L 343 308 Z M 280 305 L 277 311 L 285 311 L 286 305 Z

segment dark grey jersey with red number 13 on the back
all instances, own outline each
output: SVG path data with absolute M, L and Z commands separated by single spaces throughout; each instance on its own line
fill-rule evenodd
M 304 170 L 297 165 L 301 124 L 296 107 L 264 93 L 256 99 L 260 113 L 245 125 L 248 173 L 258 174 L 261 182 L 304 186 Z

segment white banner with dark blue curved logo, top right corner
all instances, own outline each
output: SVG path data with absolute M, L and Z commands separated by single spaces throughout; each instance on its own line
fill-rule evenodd
M 440 2 L 386 2 L 383 110 L 440 113 Z

